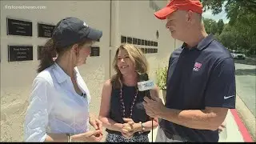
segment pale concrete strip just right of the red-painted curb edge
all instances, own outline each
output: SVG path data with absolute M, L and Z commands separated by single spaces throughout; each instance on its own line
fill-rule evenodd
M 238 112 L 238 116 L 242 119 L 242 122 L 246 125 L 247 130 L 249 131 L 254 142 L 256 141 L 256 118 L 254 114 L 250 112 L 242 99 L 239 98 L 237 94 L 236 97 L 236 110 Z M 243 131 L 241 131 L 242 133 Z

